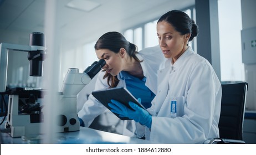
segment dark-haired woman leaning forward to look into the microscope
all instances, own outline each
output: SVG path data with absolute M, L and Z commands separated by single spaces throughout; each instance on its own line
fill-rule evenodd
M 122 34 L 107 32 L 98 39 L 94 48 L 98 58 L 106 61 L 103 72 L 97 77 L 95 90 L 126 87 L 132 95 L 142 99 L 142 105 L 151 107 L 151 101 L 157 91 L 157 70 L 161 62 L 165 61 L 159 46 L 138 52 L 136 45 L 128 42 Z M 94 118 L 105 110 L 106 107 L 90 95 L 78 112 L 80 125 L 89 127 Z M 122 124 L 125 127 L 117 133 L 133 136 L 135 125 L 132 128 L 129 121 Z

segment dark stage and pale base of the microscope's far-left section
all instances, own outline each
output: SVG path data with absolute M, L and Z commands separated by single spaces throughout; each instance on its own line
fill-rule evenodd
M 12 137 L 33 137 L 44 122 L 42 113 L 43 90 L 14 87 L 9 89 L 9 104 L 5 128 Z

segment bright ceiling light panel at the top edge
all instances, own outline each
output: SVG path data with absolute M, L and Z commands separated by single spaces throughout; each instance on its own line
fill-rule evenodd
M 73 0 L 73 1 L 70 1 L 68 4 L 66 4 L 66 6 L 74 9 L 79 9 L 81 11 L 89 12 L 94 8 L 100 6 L 100 4 L 92 1 L 86 1 L 86 0 Z

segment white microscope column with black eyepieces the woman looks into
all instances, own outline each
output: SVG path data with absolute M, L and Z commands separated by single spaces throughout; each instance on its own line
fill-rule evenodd
M 79 69 L 69 68 L 63 80 L 62 90 L 59 95 L 59 111 L 57 115 L 57 132 L 79 131 L 80 122 L 76 111 L 76 95 L 89 84 L 90 80 L 99 73 L 106 64 L 104 59 L 95 61 L 83 73 Z

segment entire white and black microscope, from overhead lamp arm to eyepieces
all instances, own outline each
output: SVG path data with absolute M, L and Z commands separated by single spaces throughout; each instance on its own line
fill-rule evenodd
M 44 108 L 40 105 L 47 91 L 33 88 L 12 88 L 6 90 L 8 50 L 27 51 L 30 61 L 30 76 L 42 76 L 45 44 L 43 33 L 32 33 L 29 46 L 16 44 L 0 44 L 0 94 L 8 94 L 8 113 L 5 128 L 12 137 L 29 137 L 43 134 L 40 127 L 44 125 Z M 79 131 L 80 122 L 76 111 L 76 95 L 89 84 L 106 64 L 104 59 L 95 61 L 79 73 L 76 68 L 70 68 L 66 74 L 61 92 L 59 92 L 57 132 Z

